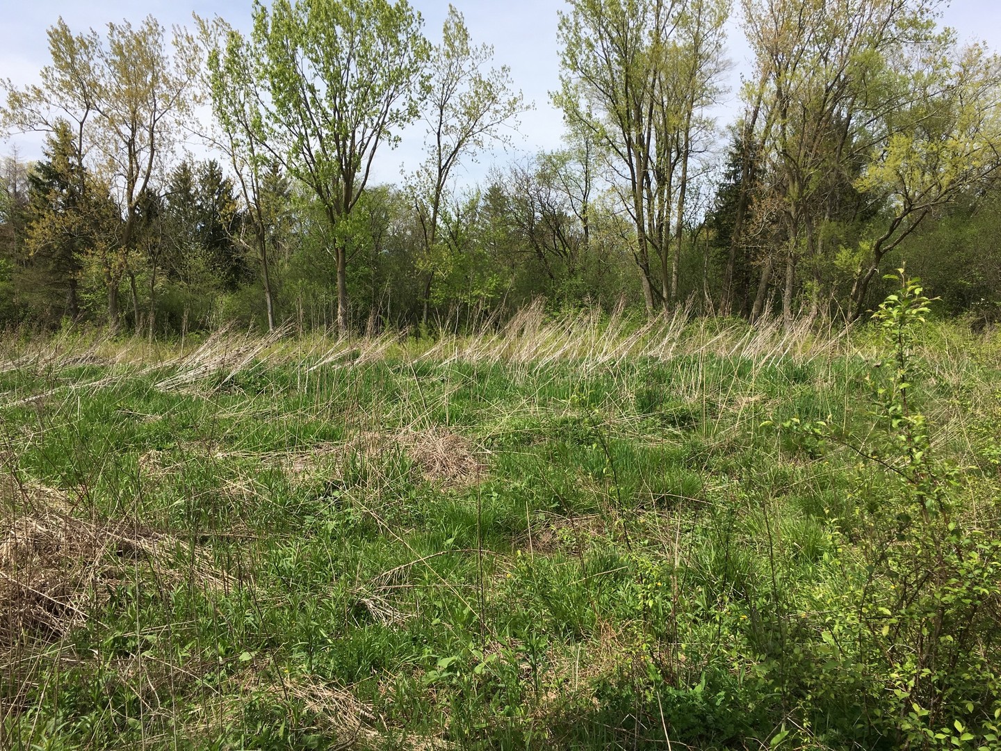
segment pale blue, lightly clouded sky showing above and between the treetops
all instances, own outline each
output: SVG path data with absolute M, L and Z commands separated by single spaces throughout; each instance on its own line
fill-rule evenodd
M 448 10 L 447 0 L 410 0 L 424 20 L 424 33 L 433 42 L 440 38 L 441 24 Z M 569 7 L 564 0 L 452 0 L 465 17 L 474 43 L 493 46 L 494 64 L 508 65 L 517 88 L 534 103 L 534 109 L 521 115 L 518 132 L 504 151 L 485 153 L 477 163 L 467 163 L 464 178 L 477 180 L 492 161 L 507 161 L 520 154 L 558 148 L 563 134 L 563 119 L 550 102 L 550 92 L 559 87 L 560 58 L 557 47 L 557 22 L 560 10 Z M 33 83 L 38 71 L 48 62 L 46 29 L 59 16 L 69 27 L 80 32 L 88 28 L 101 31 L 108 21 L 127 19 L 138 23 L 152 14 L 166 27 L 191 25 L 191 13 L 219 15 L 237 28 L 250 25 L 251 0 L 3 0 L 0 21 L 0 78 L 15 85 Z M 739 6 L 739 0 L 735 5 Z M 942 24 L 956 29 L 963 41 L 985 41 L 1001 51 L 1001 0 L 952 0 L 943 8 Z M 728 57 L 730 93 L 717 110 L 721 128 L 738 111 L 740 77 L 750 66 L 750 52 L 737 19 L 729 25 Z M 422 128 L 411 126 L 402 142 L 392 150 L 383 149 L 375 157 L 373 178 L 398 182 L 401 174 L 412 170 L 421 159 Z M 721 136 L 721 143 L 724 137 Z M 17 135 L 0 143 L 0 155 L 17 149 L 21 159 L 41 155 L 42 138 Z M 204 153 L 197 144 L 191 148 Z M 507 152 L 507 153 L 506 153 Z M 463 179 L 459 175 L 459 179 Z

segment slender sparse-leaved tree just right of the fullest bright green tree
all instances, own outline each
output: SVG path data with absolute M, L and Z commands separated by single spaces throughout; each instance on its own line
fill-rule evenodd
M 483 70 L 493 48 L 471 45 L 462 14 L 452 5 L 431 51 L 430 86 L 425 102 L 428 154 L 413 179 L 413 202 L 423 239 L 422 319 L 427 320 L 431 283 L 437 270 L 438 219 L 447 199 L 452 170 L 489 140 L 504 140 L 500 126 L 527 107 L 512 90 L 507 65 Z M 457 206 L 456 206 L 457 208 Z

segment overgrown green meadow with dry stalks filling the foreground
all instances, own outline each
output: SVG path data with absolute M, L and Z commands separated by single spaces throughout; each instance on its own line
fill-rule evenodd
M 0 747 L 998 748 L 1001 341 L 913 330 L 9 337 Z

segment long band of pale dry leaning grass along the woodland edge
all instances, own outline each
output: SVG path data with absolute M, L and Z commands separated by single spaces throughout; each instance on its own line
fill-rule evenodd
M 445 331 L 433 340 L 408 338 L 405 331 L 359 337 L 332 337 L 323 332 L 292 336 L 290 327 L 265 334 L 224 327 L 194 345 L 112 338 L 99 332 L 62 332 L 28 341 L 8 338 L 0 346 L 0 372 L 16 368 L 55 371 L 87 363 L 164 367 L 173 372 L 156 386 L 169 391 L 196 389 L 209 378 L 221 386 L 260 361 L 294 363 L 303 378 L 319 368 L 349 367 L 388 357 L 410 362 L 538 366 L 573 360 L 594 369 L 636 357 L 667 360 L 680 354 L 717 354 L 749 357 L 767 366 L 783 357 L 813 359 L 844 353 L 851 349 L 847 332 L 819 331 L 807 319 L 785 326 L 775 317 L 749 326 L 738 320 L 695 317 L 687 308 L 641 321 L 623 308 L 611 314 L 585 310 L 552 316 L 537 301 L 499 326 L 487 321 L 469 333 Z

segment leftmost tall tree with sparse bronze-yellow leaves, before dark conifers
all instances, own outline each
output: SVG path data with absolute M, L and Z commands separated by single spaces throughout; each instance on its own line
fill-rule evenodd
M 130 266 L 140 201 L 169 150 L 178 123 L 188 111 L 195 76 L 192 45 L 175 31 L 173 52 L 152 16 L 137 28 L 109 23 L 106 39 L 91 29 L 73 34 L 59 21 L 48 30 L 50 65 L 42 83 L 16 89 L 3 82 L 7 104 L 0 120 L 8 130 L 52 132 L 65 120 L 74 133 L 74 161 L 80 179 L 91 170 L 111 186 L 121 222 L 102 243 L 101 266 L 107 287 L 107 317 L 118 325 L 118 287 L 128 274 L 139 324 L 138 293 Z

